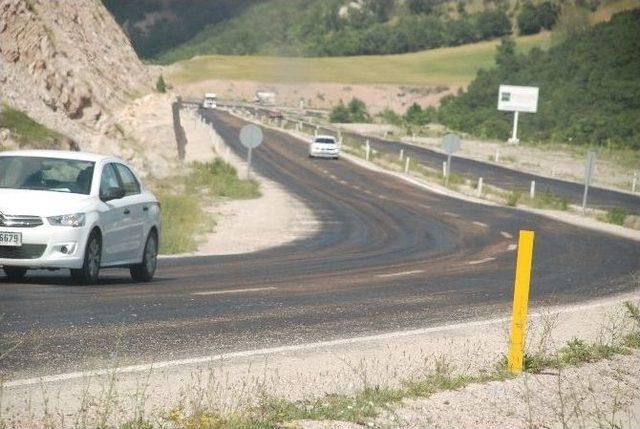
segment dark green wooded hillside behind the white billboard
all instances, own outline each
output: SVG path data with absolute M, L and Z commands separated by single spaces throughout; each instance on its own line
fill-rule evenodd
M 462 95 L 442 100 L 440 121 L 504 140 L 512 114 L 496 110 L 498 86 L 538 86 L 538 112 L 521 115 L 523 139 L 640 150 L 640 9 L 574 30 L 549 50 L 526 55 L 503 43 L 496 68 L 480 71 Z

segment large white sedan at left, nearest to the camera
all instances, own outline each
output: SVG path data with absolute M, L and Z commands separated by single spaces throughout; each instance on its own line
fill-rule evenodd
M 28 269 L 70 269 L 93 284 L 102 267 L 150 281 L 160 227 L 158 200 L 118 158 L 0 152 L 0 266 L 11 281 Z

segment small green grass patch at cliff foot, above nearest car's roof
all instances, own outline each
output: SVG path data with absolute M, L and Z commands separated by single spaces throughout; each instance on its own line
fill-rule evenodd
M 7 128 L 20 143 L 36 149 L 49 148 L 62 140 L 62 134 L 34 121 L 26 113 L 6 104 L 0 109 L 0 128 Z

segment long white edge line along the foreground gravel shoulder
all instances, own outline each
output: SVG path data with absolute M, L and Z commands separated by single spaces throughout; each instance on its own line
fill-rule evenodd
M 626 301 L 628 299 L 629 298 L 625 296 L 622 301 Z M 576 313 L 576 312 L 585 311 L 591 308 L 598 308 L 606 305 L 611 305 L 612 302 L 618 303 L 622 301 L 620 300 L 620 298 L 617 298 L 617 299 L 596 301 L 596 302 L 569 306 L 569 307 L 562 307 L 562 306 L 552 307 L 552 309 L 557 309 L 557 311 L 561 313 Z M 547 314 L 549 314 L 549 309 L 531 312 L 529 317 L 531 318 L 542 317 Z M 479 327 L 479 326 L 497 325 L 504 322 L 508 322 L 510 320 L 511 320 L 511 316 L 497 317 L 493 319 L 477 320 L 473 322 L 453 323 L 450 325 L 433 326 L 431 328 L 412 329 L 409 331 L 396 331 L 396 332 L 389 332 L 386 334 L 368 335 L 364 337 L 343 338 L 343 339 L 331 340 L 331 341 L 319 341 L 316 343 L 297 344 L 293 346 L 281 346 L 281 347 L 264 348 L 264 349 L 257 349 L 257 350 L 246 350 L 242 352 L 222 353 L 222 354 L 203 356 L 198 358 L 187 358 L 187 359 L 179 359 L 179 360 L 171 360 L 171 361 L 161 361 L 161 362 L 155 362 L 150 364 L 123 366 L 120 368 L 68 372 L 65 374 L 46 375 L 43 377 L 24 378 L 20 380 L 7 381 L 3 384 L 3 387 L 4 388 L 23 387 L 23 386 L 34 386 L 34 385 L 39 386 L 44 383 L 55 383 L 58 381 L 88 379 L 91 377 L 100 377 L 105 375 L 112 376 L 112 375 L 118 375 L 118 374 L 147 373 L 153 370 L 159 370 L 163 368 L 173 368 L 177 366 L 187 366 L 187 365 L 197 365 L 197 364 L 211 363 L 211 362 L 218 362 L 218 361 L 227 361 L 230 359 L 246 358 L 246 357 L 252 357 L 252 356 L 265 356 L 265 355 L 271 355 L 271 354 L 297 352 L 297 351 L 313 350 L 313 349 L 322 350 L 322 349 L 326 349 L 327 347 L 343 346 L 343 345 L 351 345 L 351 344 L 362 344 L 362 343 L 368 343 L 372 341 L 382 341 L 382 340 L 390 340 L 394 338 L 411 337 L 415 335 L 425 335 L 425 334 L 430 334 L 434 332 L 447 332 L 447 331 L 454 331 L 460 328 L 472 328 L 472 327 Z

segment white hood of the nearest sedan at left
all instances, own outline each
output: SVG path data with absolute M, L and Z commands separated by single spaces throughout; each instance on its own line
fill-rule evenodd
M 80 213 L 93 197 L 66 192 L 0 189 L 0 212 L 8 215 L 54 216 Z

